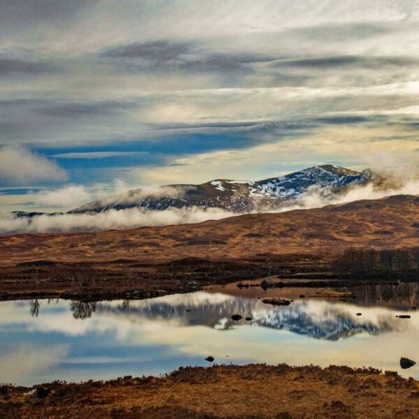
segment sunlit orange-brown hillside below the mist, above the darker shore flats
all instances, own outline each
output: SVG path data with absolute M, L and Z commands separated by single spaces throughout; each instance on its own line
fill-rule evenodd
M 419 243 L 419 197 L 391 196 L 277 214 L 245 214 L 199 224 L 99 233 L 0 237 L 1 265 L 30 260 L 165 263 L 186 257 L 246 260 L 258 254 L 337 254 L 346 247 Z

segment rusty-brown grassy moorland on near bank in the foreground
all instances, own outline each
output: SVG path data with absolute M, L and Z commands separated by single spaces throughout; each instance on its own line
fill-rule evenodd
M 418 418 L 419 382 L 349 367 L 220 365 L 168 376 L 0 386 L 1 418 Z

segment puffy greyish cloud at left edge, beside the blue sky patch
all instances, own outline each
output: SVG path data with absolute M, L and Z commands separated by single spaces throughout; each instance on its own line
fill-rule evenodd
M 32 184 L 66 179 L 65 170 L 44 156 L 16 145 L 0 148 L 0 180 L 2 182 Z

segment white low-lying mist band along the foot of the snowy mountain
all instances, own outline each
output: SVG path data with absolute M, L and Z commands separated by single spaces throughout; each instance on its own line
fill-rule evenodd
M 419 180 L 411 179 L 397 187 L 377 188 L 374 184 L 354 186 L 344 195 L 333 200 L 324 191 L 313 189 L 295 205 L 278 210 L 260 207 L 258 212 L 285 212 L 291 210 L 309 210 L 330 204 L 349 203 L 354 200 L 378 199 L 385 196 L 419 194 Z M 223 219 L 240 214 L 218 208 L 202 209 L 199 207 L 170 208 L 168 210 L 147 210 L 130 208 L 127 210 L 108 210 L 98 213 L 57 214 L 17 217 L 13 214 L 0 213 L 0 234 L 15 233 L 59 233 L 96 230 L 122 230 L 141 226 L 164 226 L 169 224 L 199 223 L 201 221 Z

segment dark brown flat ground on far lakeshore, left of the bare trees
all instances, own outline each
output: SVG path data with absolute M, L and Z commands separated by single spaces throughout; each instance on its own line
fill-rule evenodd
M 205 286 L 250 281 L 325 269 L 318 256 L 291 255 L 257 260 L 183 258 L 166 263 L 113 260 L 63 263 L 34 260 L 0 267 L 0 300 L 68 298 L 78 300 L 144 299 L 200 291 Z

